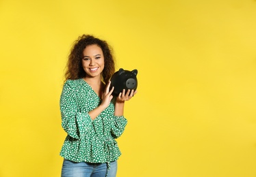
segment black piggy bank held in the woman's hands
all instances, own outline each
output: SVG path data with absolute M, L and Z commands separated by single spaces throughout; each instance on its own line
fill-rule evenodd
M 127 71 L 123 68 L 120 68 L 119 71 L 116 71 L 110 79 L 110 88 L 114 86 L 114 91 L 112 95 L 114 97 L 118 97 L 119 93 L 123 92 L 123 89 L 125 89 L 125 93 L 128 89 L 133 89 L 134 91 L 136 91 L 136 88 L 138 86 L 138 80 L 136 78 L 137 74 L 137 69 Z

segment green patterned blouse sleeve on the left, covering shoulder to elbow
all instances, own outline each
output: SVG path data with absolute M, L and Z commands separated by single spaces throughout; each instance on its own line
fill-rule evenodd
M 64 84 L 60 97 L 60 112 L 62 128 L 72 138 L 80 139 L 92 126 L 92 119 L 89 114 L 79 112 L 75 86 L 71 80 Z

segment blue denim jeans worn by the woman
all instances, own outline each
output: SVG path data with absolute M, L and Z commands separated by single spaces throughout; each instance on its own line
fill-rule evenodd
M 73 162 L 64 159 L 62 177 L 116 177 L 117 162 L 110 163 L 107 172 L 107 163 Z

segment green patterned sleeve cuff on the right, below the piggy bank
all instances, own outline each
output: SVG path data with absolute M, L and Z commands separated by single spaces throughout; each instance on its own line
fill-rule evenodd
M 111 133 L 113 138 L 118 138 L 125 131 L 125 126 L 127 125 L 127 119 L 124 116 L 114 116 Z

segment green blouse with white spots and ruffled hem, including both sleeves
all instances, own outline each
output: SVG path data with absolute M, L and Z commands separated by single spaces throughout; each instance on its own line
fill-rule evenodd
M 97 118 L 88 114 L 101 103 L 83 79 L 67 80 L 60 97 L 62 127 L 68 134 L 60 155 L 75 162 L 106 163 L 120 157 L 116 138 L 122 135 L 127 119 L 114 116 L 114 99 Z

